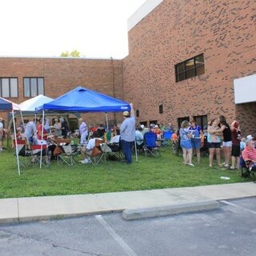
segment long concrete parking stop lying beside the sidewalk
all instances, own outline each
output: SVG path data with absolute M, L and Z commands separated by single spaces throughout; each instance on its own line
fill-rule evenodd
M 172 206 L 158 206 L 150 208 L 129 209 L 122 212 L 122 218 L 134 220 L 138 218 L 154 218 L 173 214 L 184 214 L 201 210 L 217 210 L 219 203 L 214 200 L 191 202 Z

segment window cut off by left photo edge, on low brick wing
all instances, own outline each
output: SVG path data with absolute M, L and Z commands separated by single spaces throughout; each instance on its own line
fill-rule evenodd
M 0 78 L 0 97 L 18 97 L 18 78 Z

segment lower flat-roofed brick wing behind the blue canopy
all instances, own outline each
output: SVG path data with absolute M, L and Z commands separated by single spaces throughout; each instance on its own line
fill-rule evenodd
M 0 95 L 20 103 L 38 94 L 57 98 L 77 86 L 123 98 L 122 60 L 86 58 L 0 58 Z M 90 124 L 105 114 L 84 114 Z M 108 114 L 111 122 L 122 114 Z

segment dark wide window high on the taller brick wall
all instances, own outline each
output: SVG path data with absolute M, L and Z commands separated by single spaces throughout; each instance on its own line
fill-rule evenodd
M 205 61 L 203 54 L 175 65 L 176 82 L 180 82 L 188 78 L 194 78 L 195 76 L 204 73 Z

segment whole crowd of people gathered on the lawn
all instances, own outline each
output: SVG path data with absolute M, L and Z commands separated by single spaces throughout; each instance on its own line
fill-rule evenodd
M 226 118 L 220 115 L 208 122 L 208 126 L 202 129 L 194 119 L 183 121 L 180 129 L 174 128 L 171 122 L 167 125 L 150 124 L 138 125 L 135 128 L 134 107 L 130 104 L 130 111 L 122 113 L 123 121 L 118 126 L 113 126 L 109 130 L 103 125 L 88 126 L 83 118 L 78 119 L 79 144 L 81 146 L 82 163 L 90 162 L 90 155 L 93 152 L 96 142 L 108 142 L 109 146 L 120 144 L 124 154 L 125 162 L 132 163 L 132 149 L 134 141 L 138 150 L 143 150 L 145 145 L 144 134 L 150 132 L 154 134 L 158 146 L 164 142 L 164 134 L 170 133 L 170 140 L 173 144 L 173 152 L 176 154 L 178 147 L 182 149 L 183 163 L 188 166 L 194 166 L 192 162 L 193 155 L 197 162 L 201 161 L 202 147 L 209 151 L 209 166 L 214 165 L 216 158 L 217 165 L 235 170 L 240 168 L 240 157 L 256 162 L 256 150 L 254 148 L 254 138 L 251 135 L 242 138 L 239 123 L 234 120 L 230 125 Z M 54 124 L 50 126 L 50 119 L 44 119 L 42 127 L 42 118 L 27 120 L 26 126 L 17 128 L 17 138 L 24 138 L 28 145 L 38 144 L 58 144 L 57 139 L 66 139 L 70 134 L 70 127 L 66 118 L 55 118 Z M 2 138 L 4 129 L 2 118 L 0 118 L 0 151 L 2 151 Z M 50 143 L 49 143 L 50 142 Z M 66 141 L 67 144 L 70 141 Z M 55 158 L 54 148 L 51 148 L 52 158 Z M 224 162 L 221 163 L 221 154 Z

